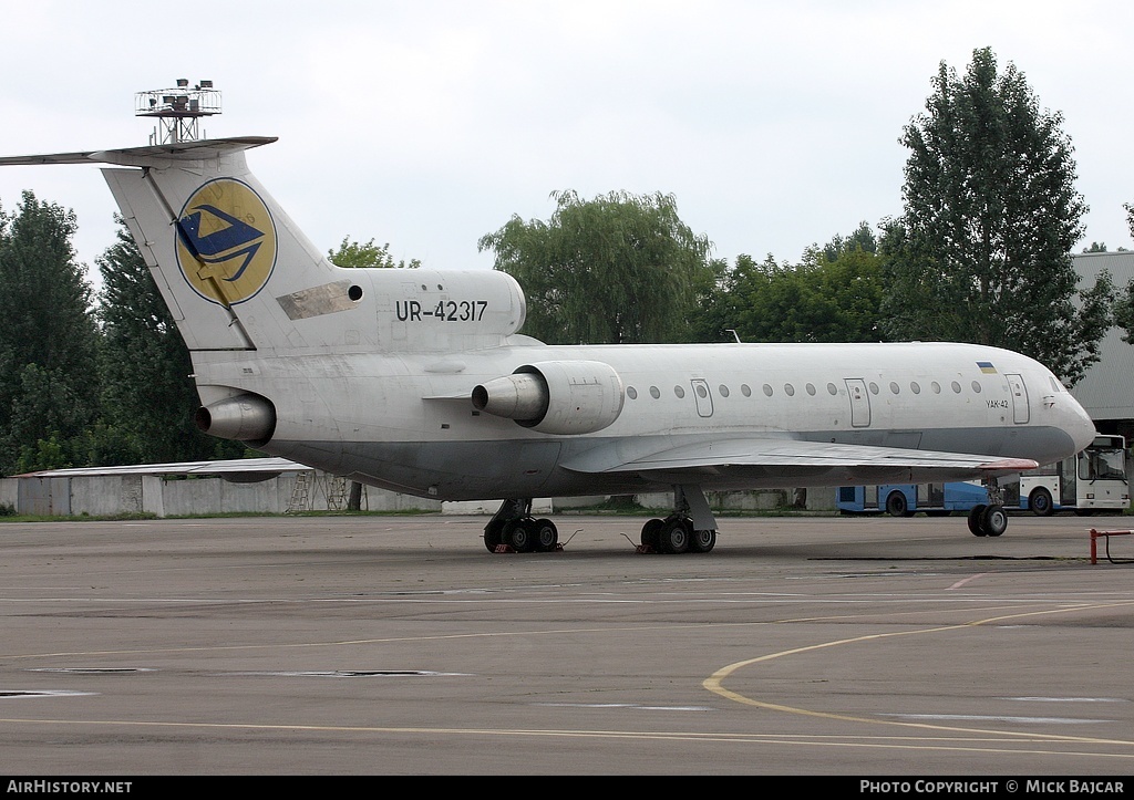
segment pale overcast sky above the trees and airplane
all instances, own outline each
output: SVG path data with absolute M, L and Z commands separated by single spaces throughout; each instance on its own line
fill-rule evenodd
M 0 154 L 147 144 L 136 92 L 211 79 L 211 137 L 262 135 L 252 170 L 323 250 L 491 267 L 484 233 L 551 192 L 672 194 L 733 261 L 902 213 L 902 129 L 941 61 L 990 46 L 1064 117 L 1091 211 L 1077 249 L 1134 247 L 1129 41 L 1119 0 L 0 0 Z M 73 208 L 78 257 L 115 240 L 95 167 L 0 169 Z

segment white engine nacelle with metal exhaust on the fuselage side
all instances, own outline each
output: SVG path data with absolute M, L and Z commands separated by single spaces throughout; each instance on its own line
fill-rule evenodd
M 473 406 L 540 433 L 582 434 L 621 414 L 623 380 L 602 361 L 539 361 L 473 390 Z

